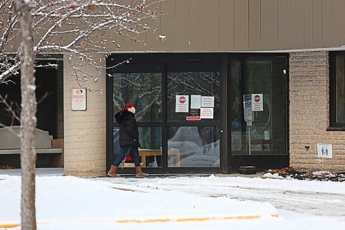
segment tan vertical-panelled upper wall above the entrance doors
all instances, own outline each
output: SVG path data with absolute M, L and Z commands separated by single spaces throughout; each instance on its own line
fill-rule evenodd
M 345 45 L 344 0 L 168 0 L 155 6 L 164 15 L 148 25 L 166 41 L 146 32 L 138 37 L 146 42 L 143 46 L 108 31 L 121 48 L 111 41 L 106 46 L 114 51 L 232 52 Z

